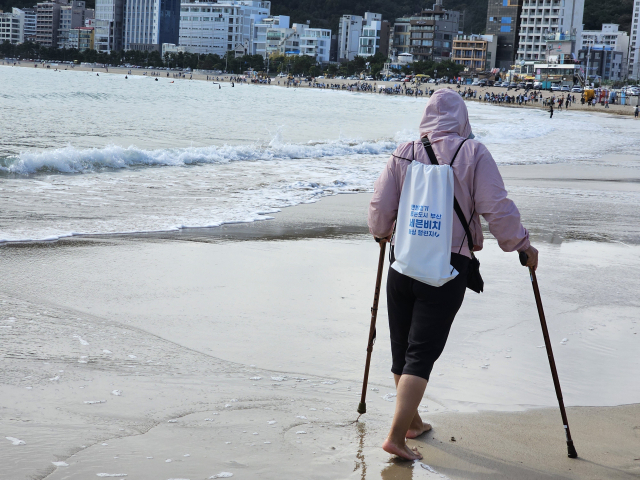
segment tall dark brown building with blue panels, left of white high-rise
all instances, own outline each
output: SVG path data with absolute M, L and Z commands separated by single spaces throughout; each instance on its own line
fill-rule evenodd
M 489 0 L 486 33 L 497 39 L 495 66 L 502 71 L 511 70 L 518 51 L 522 2 Z

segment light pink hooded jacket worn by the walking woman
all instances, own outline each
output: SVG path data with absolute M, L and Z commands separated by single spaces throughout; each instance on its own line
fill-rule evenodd
M 420 137 L 428 137 L 438 162 L 451 164 L 458 147 L 471 135 L 469 114 L 464 100 L 452 90 L 438 90 L 433 94 L 420 124 Z M 369 206 L 369 231 L 377 238 L 393 233 L 398 215 L 400 193 L 409 163 L 414 158 L 431 164 L 422 142 L 400 145 L 374 185 Z M 520 212 L 507 198 L 502 176 L 495 160 L 482 143 L 467 140 L 453 164 L 455 196 L 469 221 L 474 250 L 482 250 L 484 237 L 480 217 L 489 223 L 489 230 L 505 252 L 529 248 L 529 232 L 520 223 Z M 451 251 L 470 257 L 460 220 L 454 215 Z

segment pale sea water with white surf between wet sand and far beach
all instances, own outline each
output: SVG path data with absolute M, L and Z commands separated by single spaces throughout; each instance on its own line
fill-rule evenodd
M 371 191 L 396 145 L 418 138 L 426 103 L 171 81 L 0 67 L 0 242 L 251 222 Z M 625 117 L 469 111 L 501 165 L 593 165 L 637 148 Z

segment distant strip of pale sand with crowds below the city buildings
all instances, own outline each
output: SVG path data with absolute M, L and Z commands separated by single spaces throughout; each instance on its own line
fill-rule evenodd
M 47 69 L 46 65 L 54 65 L 55 62 L 45 62 L 45 64 L 38 64 L 37 68 L 43 68 L 43 69 Z M 21 61 L 19 64 L 15 65 L 16 67 L 22 67 L 22 68 L 34 68 L 33 67 L 34 63 L 33 62 L 25 62 L 25 61 Z M 7 67 L 12 67 L 14 65 L 0 65 L 0 66 L 7 66 Z M 64 69 L 62 69 L 62 67 L 64 67 Z M 69 68 L 71 67 L 71 68 Z M 55 70 L 58 67 L 53 67 L 53 70 Z M 51 68 L 49 68 L 48 70 L 51 70 Z M 52 70 L 52 71 L 53 71 Z M 222 75 L 207 75 L 207 74 L 199 74 L 199 73 L 185 73 L 185 78 L 182 77 L 178 77 L 178 78 L 174 78 L 173 76 L 166 76 L 167 71 L 166 70 L 155 70 L 155 69 L 145 69 L 145 68 L 125 68 L 125 67 L 88 67 L 88 66 L 84 66 L 84 65 L 63 65 L 60 67 L 60 69 L 58 71 L 78 71 L 78 72 L 88 72 L 88 73 L 103 73 L 103 74 L 113 74 L 113 75 L 128 75 L 129 71 L 131 71 L 131 75 L 135 75 L 135 76 L 147 76 L 149 78 L 157 78 L 159 81 L 160 80 L 170 80 L 170 81 L 177 81 L 177 80 L 197 80 L 197 81 L 204 81 L 204 82 L 211 82 L 213 84 L 218 84 L 218 83 L 222 83 L 222 84 L 229 84 L 232 83 L 232 78 L 236 77 L 236 75 L 229 75 L 229 74 L 222 74 Z M 158 73 L 161 72 L 161 75 L 153 75 L 154 73 Z M 174 75 L 176 72 L 175 71 L 170 71 L 169 74 L 170 75 Z M 193 77 L 193 78 L 189 78 L 189 77 Z M 213 80 L 207 80 L 207 77 L 212 77 L 212 78 L 222 78 L 222 80 L 219 81 L 213 81 Z M 319 89 L 313 86 L 308 86 L 307 82 L 303 82 L 301 83 L 299 86 L 297 87 L 287 87 L 287 85 L 279 85 L 276 82 L 278 81 L 282 81 L 285 82 L 285 79 L 278 79 L 278 78 L 272 78 L 272 82 L 270 85 L 268 84 L 256 84 L 258 86 L 266 86 L 266 87 L 282 87 L 282 88 L 292 88 L 292 89 L 296 89 L 296 88 L 310 88 L 310 89 Z M 377 85 L 378 87 L 380 86 L 384 86 L 385 88 L 388 87 L 393 87 L 394 85 L 398 85 L 398 82 L 384 82 L 384 81 L 356 81 L 356 80 L 338 80 L 338 79 L 322 79 L 320 82 L 317 83 L 326 83 L 326 84 L 337 84 L 337 85 L 355 85 L 356 83 L 366 83 L 369 85 Z M 249 85 L 253 85 L 251 83 L 240 83 L 239 85 L 243 85 L 243 86 L 249 86 Z M 478 97 L 480 97 L 481 95 L 484 95 L 485 93 L 495 93 L 495 94 L 502 94 L 502 93 L 509 93 L 512 96 L 516 96 L 517 94 L 520 94 L 521 92 L 515 92 L 515 91 L 509 91 L 507 92 L 506 89 L 501 88 L 501 87 L 473 87 L 471 85 L 463 85 L 460 87 L 460 89 L 457 88 L 457 85 L 451 85 L 451 84 L 442 84 L 442 85 L 435 85 L 435 84 L 422 84 L 420 86 L 421 89 L 434 89 L 434 90 L 439 90 L 442 88 L 449 88 L 451 90 L 466 90 L 468 88 L 471 88 L 472 90 L 477 90 L 478 91 Z M 326 89 L 322 89 L 322 90 L 332 90 L 331 88 L 326 88 Z M 349 93 L 361 93 L 361 94 L 367 94 L 367 95 L 372 95 L 372 96 L 379 96 L 381 95 L 380 93 L 377 92 L 366 92 L 366 91 L 355 91 L 355 92 L 351 92 L 349 90 L 340 90 L 340 91 L 344 91 L 344 92 L 349 92 Z M 559 97 L 559 96 L 564 96 L 567 92 L 548 92 L 548 91 L 543 91 L 543 98 L 551 98 L 552 96 L 555 97 Z M 382 94 L 387 96 L 387 94 Z M 576 99 L 579 98 L 580 94 L 571 94 L 571 95 L 575 95 Z M 412 96 L 407 96 L 404 94 L 399 94 L 399 95 L 389 95 L 389 96 L 397 96 L 397 97 L 409 97 L 409 98 L 413 98 Z M 426 95 L 423 95 L 422 97 L 418 97 L 418 98 L 423 98 L 423 99 L 428 99 L 429 97 Z M 640 97 L 636 97 L 636 103 L 640 103 Z M 491 104 L 488 102 L 484 102 L 484 101 L 480 101 L 478 98 L 476 99 L 465 99 L 465 101 L 467 102 L 473 102 L 473 103 L 480 103 L 480 104 L 488 104 L 491 106 L 497 106 L 497 107 L 509 107 L 509 108 L 529 108 L 529 109 L 537 109 L 537 110 L 543 110 L 543 111 L 548 111 L 548 107 L 544 107 L 542 105 L 542 102 L 537 102 L 535 104 L 532 105 L 513 105 L 513 104 L 506 104 L 506 103 L 501 103 L 501 104 Z M 630 102 L 633 101 L 633 97 L 630 97 Z M 619 116 L 632 116 L 634 115 L 634 109 L 635 109 L 635 105 L 610 105 L 609 108 L 605 108 L 603 106 L 601 106 L 600 104 L 598 104 L 595 107 L 590 107 L 587 105 L 582 105 L 580 103 L 580 101 L 578 100 L 575 104 L 572 103 L 571 107 L 569 108 L 569 111 L 580 111 L 580 112 L 593 112 L 593 113 L 600 113 L 600 114 L 610 114 L 610 115 L 619 115 Z M 562 114 L 562 112 L 567 111 L 566 109 L 562 109 L 562 110 L 558 110 L 558 109 L 554 109 L 554 115 L 559 115 Z

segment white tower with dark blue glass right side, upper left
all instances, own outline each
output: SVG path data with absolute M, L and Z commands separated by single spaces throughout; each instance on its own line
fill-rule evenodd
M 162 50 L 163 43 L 178 43 L 180 0 L 126 0 L 125 50 Z

